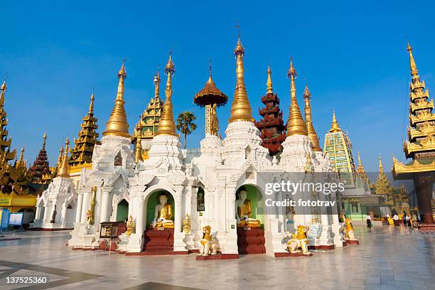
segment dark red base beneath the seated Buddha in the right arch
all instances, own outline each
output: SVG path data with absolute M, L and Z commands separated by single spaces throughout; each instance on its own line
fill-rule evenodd
M 264 254 L 264 230 L 261 227 L 237 227 L 239 254 Z

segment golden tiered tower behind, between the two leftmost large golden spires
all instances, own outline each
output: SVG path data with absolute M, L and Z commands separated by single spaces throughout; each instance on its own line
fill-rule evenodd
M 151 98 L 144 112 L 136 123 L 131 136 L 131 143 L 136 144 L 138 136 L 141 140 L 151 140 L 157 134 L 159 121 L 163 113 L 163 100 L 160 98 L 160 73 L 154 75 L 154 97 Z M 141 158 L 148 159 L 149 148 L 141 148 Z M 139 157 L 139 156 L 138 156 Z M 140 159 L 139 159 L 140 160 Z

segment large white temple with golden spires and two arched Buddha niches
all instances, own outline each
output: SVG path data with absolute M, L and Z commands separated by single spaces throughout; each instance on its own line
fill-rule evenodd
M 206 225 L 212 228 L 222 258 L 260 252 L 280 257 L 286 252 L 287 216 L 284 208 L 268 208 L 264 204 L 266 183 L 279 182 L 274 176 L 280 174 L 283 178 L 285 173 L 304 174 L 307 166 L 309 172 L 331 172 L 332 169 L 321 151 L 313 150 L 296 101 L 293 63 L 289 70 L 291 107 L 288 134 L 282 144 L 284 151 L 280 160 L 269 156 L 268 150 L 261 145 L 245 90 L 244 53 L 239 37 L 235 48 L 237 83 L 225 139 L 220 139 L 215 130 L 206 129 L 207 134 L 200 141 L 200 148 L 187 150 L 181 149 L 173 119 L 171 98 L 175 67 L 169 56 L 165 68 L 166 102 L 159 129 L 151 141 L 149 159 L 142 161 L 139 157 L 137 163 L 124 111 L 127 73 L 122 64 L 114 109 L 101 144 L 95 146 L 92 170 L 83 169 L 77 188 L 77 202 L 74 202 L 77 210 L 69 246 L 84 249 L 99 247 L 101 222 L 124 222 L 131 216 L 133 232 L 131 235 L 120 235 L 121 242 L 118 243 L 118 250 L 126 254 L 195 252 L 200 247 L 202 228 Z M 210 82 L 213 82 L 211 75 Z M 311 109 L 309 113 L 311 116 Z M 141 148 L 140 139 L 138 142 L 136 149 Z M 61 181 L 68 183 L 66 179 Z M 53 181 L 53 186 L 50 185 L 51 189 L 48 188 L 43 196 L 60 190 L 56 189 L 58 183 Z M 240 194 L 242 191 L 244 193 Z M 164 195 L 163 198 L 161 195 Z M 246 199 L 240 199 L 240 196 Z M 298 193 L 295 198 L 298 198 Z M 335 193 L 319 195 L 319 198 L 335 200 Z M 251 211 L 249 218 L 245 214 L 247 209 Z M 45 208 L 47 210 L 50 211 Z M 312 225 L 318 229 L 315 236 L 309 237 L 311 248 L 343 247 L 337 208 L 331 210 L 331 214 L 316 216 L 296 210 L 294 225 Z M 183 231 L 186 215 L 190 217 L 190 230 Z M 44 218 L 43 222 L 46 223 L 47 219 Z M 244 226 L 241 227 L 242 224 Z M 251 238 L 247 239 L 247 236 Z M 252 244 L 249 242 L 252 240 L 257 242 Z

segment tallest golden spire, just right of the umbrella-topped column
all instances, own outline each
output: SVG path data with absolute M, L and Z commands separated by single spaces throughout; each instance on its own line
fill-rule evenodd
M 234 99 L 232 100 L 231 104 L 231 117 L 228 122 L 254 122 L 254 118 L 252 118 L 251 104 L 249 104 L 249 99 L 247 97 L 247 92 L 245 89 L 245 81 L 243 80 L 243 75 L 245 73 L 245 70 L 243 68 L 243 55 L 245 55 L 245 48 L 243 48 L 242 41 L 240 41 L 240 34 L 239 38 L 237 39 L 237 46 L 234 50 L 234 54 L 237 58 L 237 82 L 234 92 Z

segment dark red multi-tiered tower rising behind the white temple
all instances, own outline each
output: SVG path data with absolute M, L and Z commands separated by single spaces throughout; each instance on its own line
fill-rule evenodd
M 279 97 L 272 90 L 272 70 L 267 69 L 267 94 L 262 96 L 263 109 L 258 112 L 262 116 L 255 126 L 260 131 L 262 146 L 269 149 L 269 154 L 274 156 L 282 151 L 281 143 L 286 139 L 286 126 L 279 109 Z

